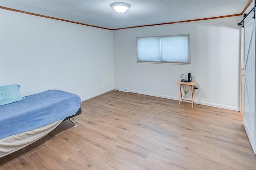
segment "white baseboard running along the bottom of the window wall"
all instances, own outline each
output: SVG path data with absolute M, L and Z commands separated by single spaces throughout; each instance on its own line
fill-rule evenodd
M 118 90 L 119 88 L 114 88 L 114 89 Z M 179 100 L 179 98 L 177 98 L 177 97 L 165 96 L 165 95 L 153 94 L 153 93 L 147 93 L 147 92 L 140 92 L 140 91 L 136 91 L 136 90 L 129 90 L 128 89 L 128 92 L 137 93 L 137 94 L 144 94 L 144 95 L 148 95 L 148 96 L 155 96 L 155 97 L 160 97 L 160 98 L 167 98 L 167 99 L 172 99 L 172 100 Z M 224 109 L 229 109 L 229 110 L 240 111 L 240 108 L 232 107 L 232 106 L 226 106 L 226 105 L 222 105 L 222 104 L 214 104 L 214 103 L 202 102 L 202 101 L 197 101 L 197 100 L 194 100 L 194 103 L 195 104 L 202 104 L 202 105 L 206 105 L 206 106 L 212 106 L 212 107 L 216 107 L 216 108 L 224 108 Z

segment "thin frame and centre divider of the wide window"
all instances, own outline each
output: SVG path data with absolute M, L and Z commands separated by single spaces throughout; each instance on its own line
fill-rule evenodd
M 160 62 L 156 62 L 156 61 L 138 61 L 138 38 L 153 38 L 153 37 L 171 37 L 171 36 L 184 36 L 187 35 L 188 36 L 188 60 L 189 63 L 184 63 L 184 62 L 163 62 L 162 61 L 162 52 L 161 52 L 161 48 L 160 48 L 160 58 L 161 61 Z M 161 44 L 161 42 L 160 42 Z M 165 35 L 165 36 L 145 36 L 145 37 L 136 37 L 136 61 L 137 63 L 151 63 L 151 64 L 178 64 L 178 65 L 191 65 L 191 53 L 190 53 L 190 34 L 175 34 L 175 35 Z

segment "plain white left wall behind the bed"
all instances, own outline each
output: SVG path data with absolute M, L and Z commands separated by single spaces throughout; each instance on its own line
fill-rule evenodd
M 0 85 L 86 100 L 114 88 L 113 31 L 0 9 Z M 98 83 L 100 80 L 100 84 Z

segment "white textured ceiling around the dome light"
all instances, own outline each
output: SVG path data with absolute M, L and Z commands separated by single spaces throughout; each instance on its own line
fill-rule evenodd
M 113 2 L 130 8 L 117 13 Z M 240 14 L 249 0 L 0 0 L 0 6 L 117 29 Z

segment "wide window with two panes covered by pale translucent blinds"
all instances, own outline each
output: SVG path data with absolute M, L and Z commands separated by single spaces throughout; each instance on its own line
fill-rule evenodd
M 190 34 L 138 37 L 137 62 L 190 64 Z

